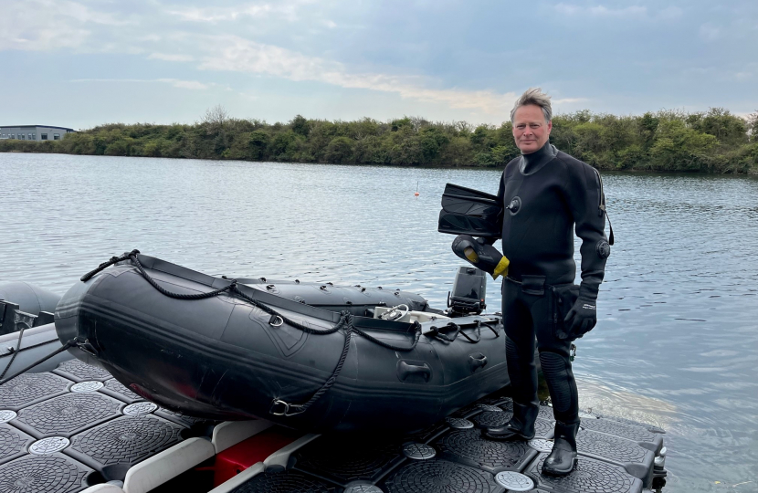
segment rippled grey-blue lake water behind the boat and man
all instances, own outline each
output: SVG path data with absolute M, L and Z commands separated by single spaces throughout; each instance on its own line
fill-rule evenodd
M 63 293 L 139 248 L 213 275 L 404 288 L 438 308 L 461 265 L 437 233 L 444 185 L 494 193 L 500 178 L 35 154 L 0 154 L 0 173 L 0 282 Z M 605 190 L 616 246 L 598 326 L 578 341 L 582 407 L 669 431 L 665 491 L 758 491 L 758 179 L 605 173 Z

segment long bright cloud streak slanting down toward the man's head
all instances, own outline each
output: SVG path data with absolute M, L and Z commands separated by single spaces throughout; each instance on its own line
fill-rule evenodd
M 430 89 L 414 76 L 353 73 L 342 63 L 307 57 L 283 47 L 257 43 L 242 37 L 209 37 L 201 43 L 209 55 L 199 68 L 216 71 L 264 74 L 296 81 L 317 81 L 345 89 L 390 92 L 401 98 L 444 103 L 450 108 L 498 113 L 509 109 L 516 95 L 490 90 Z

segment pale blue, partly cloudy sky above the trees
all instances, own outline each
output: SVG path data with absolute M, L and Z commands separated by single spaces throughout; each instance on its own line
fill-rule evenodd
M 758 2 L 0 0 L 0 125 L 758 110 Z

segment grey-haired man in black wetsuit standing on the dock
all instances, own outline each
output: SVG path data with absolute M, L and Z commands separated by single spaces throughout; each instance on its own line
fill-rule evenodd
M 548 142 L 550 97 L 540 89 L 521 95 L 511 111 L 521 156 L 505 167 L 498 199 L 505 207 L 502 286 L 513 417 L 485 435 L 529 440 L 539 411 L 534 343 L 540 354 L 555 416 L 553 452 L 542 472 L 563 476 L 576 464 L 579 408 L 569 351 L 571 341 L 595 327 L 595 300 L 610 247 L 605 238 L 605 197 L 592 166 Z M 582 282 L 574 283 L 574 233 L 582 239 Z M 611 233 L 611 242 L 613 233 Z M 479 240 L 481 243 L 481 240 Z

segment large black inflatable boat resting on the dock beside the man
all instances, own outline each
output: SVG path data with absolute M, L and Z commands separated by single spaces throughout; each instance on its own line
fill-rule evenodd
M 449 318 L 399 290 L 214 278 L 121 258 L 64 295 L 58 337 L 184 414 L 412 431 L 509 383 L 499 317 Z

